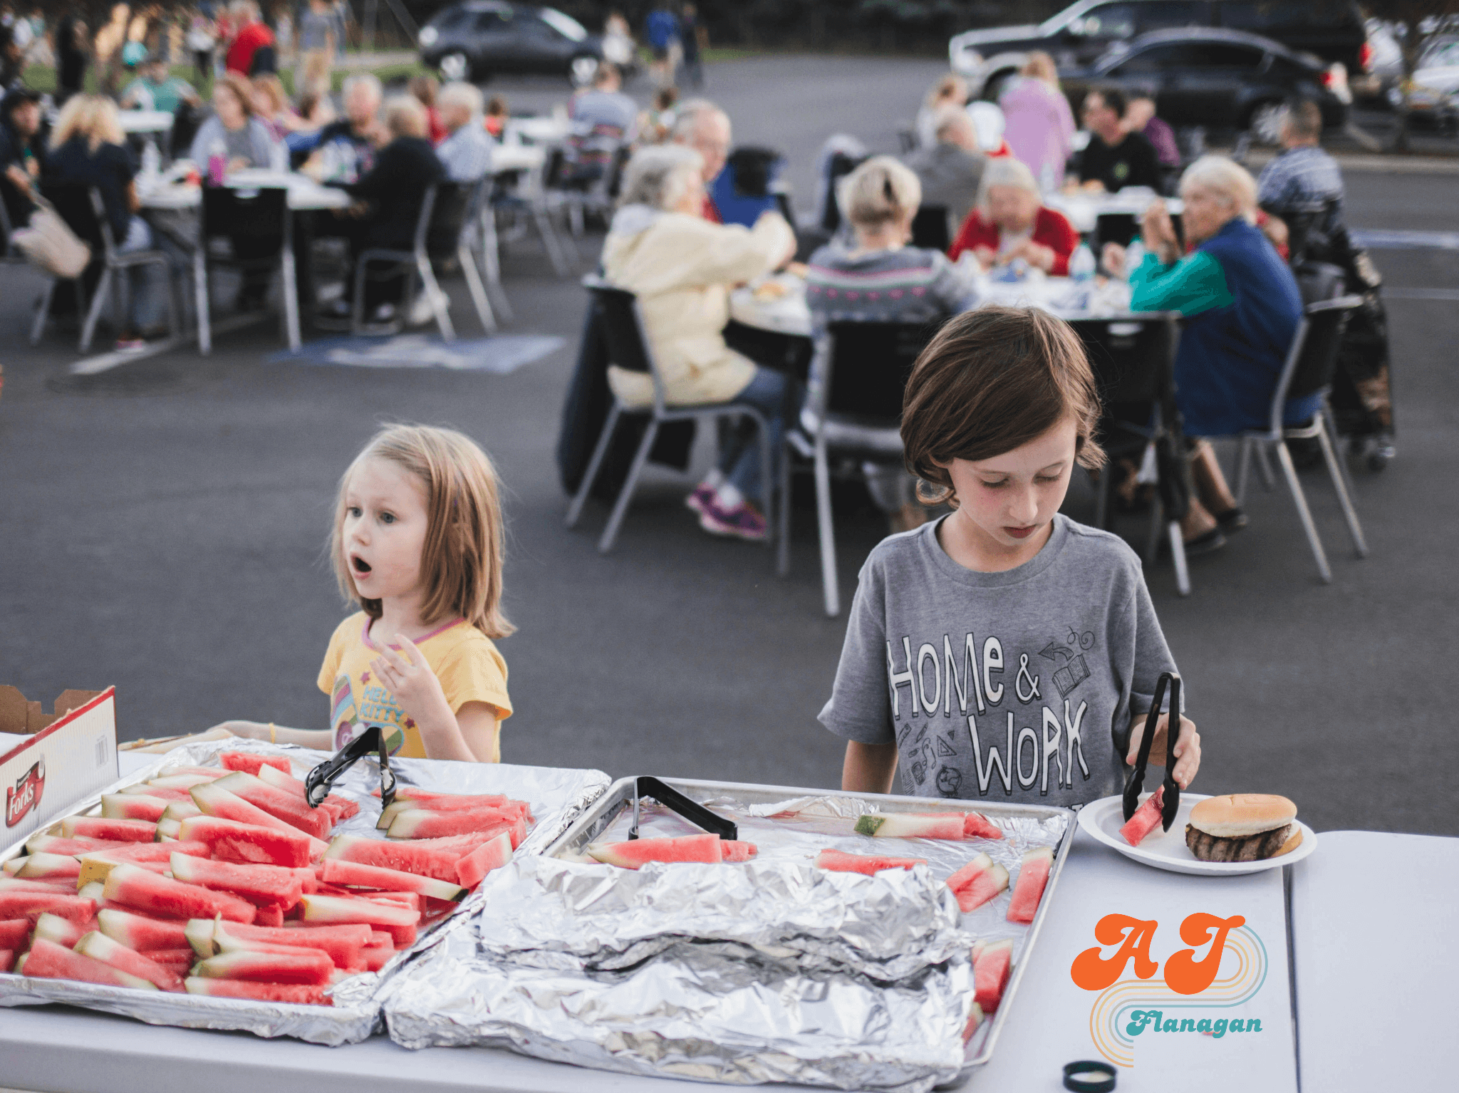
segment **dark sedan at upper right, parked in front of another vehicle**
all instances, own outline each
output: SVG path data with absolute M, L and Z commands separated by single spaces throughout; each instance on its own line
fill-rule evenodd
M 1274 140 L 1282 102 L 1313 99 L 1325 125 L 1342 125 L 1348 104 L 1328 89 L 1329 67 L 1281 42 L 1240 31 L 1154 31 L 1112 47 L 1094 64 L 1059 70 L 1078 107 L 1091 86 L 1113 85 L 1156 96 L 1156 112 L 1172 125 L 1253 130 Z

